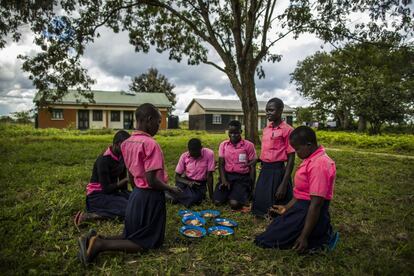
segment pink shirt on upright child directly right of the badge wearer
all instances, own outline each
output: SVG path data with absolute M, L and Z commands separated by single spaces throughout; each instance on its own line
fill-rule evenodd
M 287 161 L 287 155 L 295 152 L 289 144 L 289 135 L 292 131 L 293 127 L 284 121 L 276 127 L 273 127 L 273 122 L 270 122 L 263 129 L 260 160 L 268 163 Z

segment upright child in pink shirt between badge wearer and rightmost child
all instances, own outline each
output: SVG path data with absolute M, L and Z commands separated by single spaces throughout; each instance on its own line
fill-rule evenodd
M 272 98 L 266 104 L 266 117 L 270 123 L 263 129 L 262 168 L 252 204 L 252 212 L 258 217 L 264 217 L 272 205 L 285 204 L 292 198 L 295 150 L 289 144 L 289 135 L 293 128 L 282 120 L 283 108 L 283 101 L 278 98 Z

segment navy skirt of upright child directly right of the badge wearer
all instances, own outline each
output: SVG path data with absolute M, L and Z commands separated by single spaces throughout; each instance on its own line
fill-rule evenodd
M 285 198 L 280 201 L 277 201 L 275 198 L 277 188 L 282 182 L 284 175 L 284 162 L 262 162 L 262 169 L 260 171 L 253 196 L 253 214 L 262 217 L 267 214 L 267 211 L 270 207 L 272 207 L 272 205 L 287 204 L 292 199 L 293 192 L 291 181 L 289 181 Z

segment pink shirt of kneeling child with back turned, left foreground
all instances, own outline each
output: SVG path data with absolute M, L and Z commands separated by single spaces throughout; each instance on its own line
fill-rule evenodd
M 135 131 L 121 145 L 125 166 L 134 177 L 135 186 L 149 189 L 145 173 L 157 171 L 157 178 L 167 182 L 164 155 L 160 145 L 148 133 Z

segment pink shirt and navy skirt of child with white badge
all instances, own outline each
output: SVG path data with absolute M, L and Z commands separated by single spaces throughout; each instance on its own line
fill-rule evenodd
M 246 204 L 251 192 L 250 166 L 247 164 L 256 159 L 254 144 L 241 139 L 236 145 L 230 140 L 223 141 L 219 146 L 219 157 L 224 159 L 225 178 L 230 189 L 217 183 L 213 199 L 219 203 L 235 200 Z

